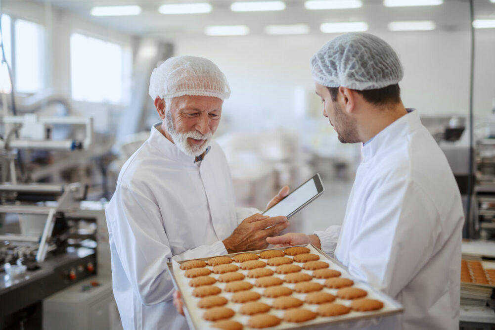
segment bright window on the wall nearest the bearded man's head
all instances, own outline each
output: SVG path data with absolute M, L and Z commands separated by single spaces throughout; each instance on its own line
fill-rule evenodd
M 120 45 L 73 33 L 70 37 L 72 99 L 121 104 L 125 87 L 123 55 Z

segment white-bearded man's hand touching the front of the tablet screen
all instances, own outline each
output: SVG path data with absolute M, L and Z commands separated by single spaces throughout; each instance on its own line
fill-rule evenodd
M 288 225 L 289 221 L 287 221 L 286 217 L 269 218 L 268 216 L 255 214 L 244 219 L 234 229 L 232 235 L 223 240 L 223 244 L 228 253 L 262 250 L 268 246 L 267 237 L 278 234 Z

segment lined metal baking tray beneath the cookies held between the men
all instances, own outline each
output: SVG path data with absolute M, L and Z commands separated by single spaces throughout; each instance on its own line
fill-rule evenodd
M 314 251 L 311 251 L 311 253 L 319 254 L 320 260 L 324 260 L 324 261 L 328 262 L 330 264 L 330 268 L 339 270 L 342 273 L 341 277 L 347 277 L 347 278 L 352 279 L 354 281 L 354 285 L 353 285 L 354 287 L 360 287 L 360 288 L 363 288 L 366 291 L 368 291 L 368 295 L 366 296 L 367 298 L 376 298 L 376 299 L 379 299 L 380 301 L 382 301 L 384 303 L 384 308 L 382 308 L 381 310 L 378 310 L 378 311 L 370 311 L 370 312 L 351 311 L 348 314 L 340 315 L 340 316 L 334 316 L 334 317 L 318 316 L 318 317 L 316 317 L 316 319 L 313 319 L 313 320 L 310 320 L 307 322 L 302 322 L 302 323 L 289 323 L 289 322 L 285 322 L 282 320 L 282 322 L 278 326 L 272 327 L 270 329 L 308 329 L 308 328 L 313 328 L 316 326 L 334 325 L 334 324 L 338 324 L 338 323 L 354 322 L 354 321 L 363 320 L 363 319 L 379 318 L 379 317 L 383 317 L 383 316 L 398 314 L 398 313 L 401 313 L 403 311 L 402 305 L 400 305 L 398 302 L 396 302 L 394 299 L 390 298 L 386 294 L 375 289 L 370 284 L 363 282 L 363 281 L 360 281 L 360 280 L 356 279 L 355 277 L 351 276 L 347 272 L 347 268 L 344 267 L 344 265 L 342 265 L 338 260 L 336 260 L 336 259 L 330 257 L 329 255 L 327 255 L 326 253 L 324 253 L 322 250 L 318 249 L 317 247 L 313 246 L 312 244 L 302 244 L 302 245 L 297 245 L 297 246 L 306 246 L 310 250 L 314 250 Z M 256 250 L 256 251 L 246 251 L 246 252 L 240 252 L 240 253 L 231 253 L 231 254 L 227 254 L 224 256 L 233 257 L 237 254 L 247 253 L 247 252 L 259 254 L 260 252 L 267 251 L 267 250 L 285 250 L 286 248 L 287 247 L 266 249 L 266 250 Z M 217 256 L 211 256 L 211 257 L 207 257 L 207 258 L 197 258 L 194 260 L 207 261 L 208 259 L 213 258 L 213 257 L 217 257 Z M 175 261 L 168 262 L 167 263 L 168 271 L 171 275 L 171 278 L 172 278 L 172 281 L 174 283 L 175 288 L 178 290 L 181 290 L 181 292 L 182 292 L 182 298 L 183 298 L 184 306 L 185 306 L 184 314 L 186 316 L 189 328 L 191 330 L 200 330 L 200 329 L 207 328 L 208 325 L 212 324 L 212 322 L 205 321 L 202 319 L 201 316 L 202 316 L 202 313 L 204 312 L 204 309 L 200 309 L 200 308 L 196 307 L 196 303 L 197 303 L 199 298 L 193 297 L 191 295 L 191 291 L 194 288 L 191 288 L 187 283 L 190 279 L 185 277 L 185 276 L 183 276 L 181 279 L 179 279 L 179 278 L 177 278 L 177 277 L 180 277 L 179 274 L 177 274 L 177 277 L 176 277 L 176 272 L 185 272 L 185 271 L 178 269 L 178 266 L 180 264 L 182 264 L 183 262 L 186 262 L 186 261 L 187 260 L 180 261 L 180 262 L 175 262 Z M 174 266 L 173 266 L 174 263 L 176 264 L 176 270 L 175 271 L 174 271 Z M 233 264 L 237 265 L 239 263 L 233 262 Z M 275 267 L 268 266 L 268 265 L 266 267 L 270 268 L 270 269 L 275 268 Z M 210 266 L 207 266 L 207 268 L 211 269 Z M 245 274 L 247 271 L 240 269 L 239 272 Z M 305 271 L 305 270 L 302 270 L 301 272 L 309 273 L 309 271 Z M 217 277 L 218 275 L 211 273 L 210 276 Z M 284 275 L 274 274 L 273 276 L 283 277 Z M 254 282 L 255 278 L 246 277 L 244 280 L 249 281 L 249 282 Z M 325 279 L 317 279 L 316 281 L 323 282 L 324 280 Z M 222 284 L 224 285 L 224 283 L 217 282 L 214 285 L 221 286 L 222 287 L 222 293 L 221 294 L 225 297 L 230 298 L 230 295 L 232 293 L 228 293 L 228 292 L 223 291 L 223 285 Z M 292 286 L 290 283 L 285 284 L 285 285 L 292 287 L 294 284 L 292 284 Z M 253 287 L 253 289 L 251 289 L 251 290 L 259 292 L 259 290 L 262 290 L 262 289 L 264 289 L 264 288 Z M 332 293 L 332 291 L 337 291 L 337 289 L 324 288 L 323 291 Z M 333 294 L 335 295 L 335 293 L 333 293 Z M 292 296 L 297 297 L 298 295 L 304 295 L 304 294 L 294 292 Z M 262 297 L 258 301 L 265 301 L 265 300 L 271 301 L 272 299 L 273 298 Z M 304 300 L 304 299 L 301 299 L 301 300 Z M 348 306 L 348 305 L 350 305 L 351 301 L 337 298 L 334 302 L 342 303 L 342 304 Z M 270 303 L 268 303 L 268 304 L 271 305 Z M 231 302 L 229 299 L 229 303 L 227 305 L 225 305 L 225 307 L 232 308 L 232 305 L 237 306 L 240 304 L 235 304 L 235 303 Z M 318 307 L 318 305 L 307 304 L 306 302 L 304 302 L 304 304 L 301 306 L 301 308 L 310 309 L 312 311 L 316 311 L 317 307 Z M 232 309 L 234 309 L 234 308 L 232 308 Z M 238 308 L 235 308 L 234 310 L 236 311 L 236 315 L 234 315 L 234 317 L 231 320 L 235 320 L 235 321 L 242 323 L 244 325 L 244 329 L 246 329 L 246 330 L 247 329 L 253 329 L 253 328 L 250 328 L 246 325 L 247 320 L 250 318 L 250 316 L 240 315 L 237 312 Z M 268 313 L 276 315 L 282 319 L 281 315 L 284 313 L 284 311 L 272 309 Z

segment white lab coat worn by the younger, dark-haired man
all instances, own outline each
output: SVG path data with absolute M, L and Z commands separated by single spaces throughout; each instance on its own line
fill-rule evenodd
M 464 212 L 446 157 L 416 110 L 363 149 L 341 226 L 321 246 L 404 307 L 373 329 L 458 329 Z

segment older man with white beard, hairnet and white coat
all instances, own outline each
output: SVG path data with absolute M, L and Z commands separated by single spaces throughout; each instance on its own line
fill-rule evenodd
M 225 155 L 211 140 L 230 95 L 213 62 L 167 59 L 149 95 L 162 121 L 122 167 L 106 210 L 113 292 L 124 329 L 187 329 L 166 263 L 265 248 L 288 221 L 234 207 Z

